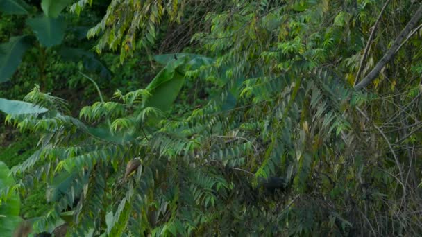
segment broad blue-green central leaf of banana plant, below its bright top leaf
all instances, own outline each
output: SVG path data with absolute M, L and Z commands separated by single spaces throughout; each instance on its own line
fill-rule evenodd
M 35 17 L 27 19 L 42 46 L 51 47 L 62 43 L 66 22 L 62 18 Z

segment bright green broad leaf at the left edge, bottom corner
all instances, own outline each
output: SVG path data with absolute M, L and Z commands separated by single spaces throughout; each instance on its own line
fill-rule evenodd
M 6 164 L 0 161 L 0 193 L 8 193 L 6 200 L 0 201 L 0 233 L 1 236 L 12 236 L 16 227 L 22 221 L 19 218 L 21 201 L 19 193 L 6 190 L 15 185 L 15 179 L 10 175 Z

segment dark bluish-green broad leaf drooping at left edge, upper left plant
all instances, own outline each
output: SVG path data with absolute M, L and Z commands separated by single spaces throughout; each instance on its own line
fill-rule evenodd
M 0 44 L 0 83 L 13 76 L 29 46 L 31 37 L 28 35 L 11 37 L 8 43 Z

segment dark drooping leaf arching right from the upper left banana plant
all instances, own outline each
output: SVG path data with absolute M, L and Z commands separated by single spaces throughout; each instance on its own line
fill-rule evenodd
M 83 66 L 88 71 L 99 72 L 100 76 L 103 78 L 111 79 L 111 72 L 107 67 L 101 62 L 99 58 L 89 51 L 78 48 L 70 47 L 61 47 L 58 51 L 62 58 L 65 60 L 79 61 L 82 60 Z

